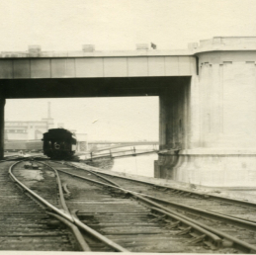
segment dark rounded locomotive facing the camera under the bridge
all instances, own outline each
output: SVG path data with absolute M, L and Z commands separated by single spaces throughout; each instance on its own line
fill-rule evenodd
M 51 159 L 68 159 L 76 150 L 76 137 L 64 128 L 51 128 L 43 133 L 43 154 Z

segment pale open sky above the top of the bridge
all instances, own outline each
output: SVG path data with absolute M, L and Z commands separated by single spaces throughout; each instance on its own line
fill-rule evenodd
M 255 36 L 255 0 L 1 1 L 0 50 L 185 48 L 215 36 Z

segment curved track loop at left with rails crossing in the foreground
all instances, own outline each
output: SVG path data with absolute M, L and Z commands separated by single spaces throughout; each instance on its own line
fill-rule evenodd
M 128 252 L 127 249 L 87 227 L 77 218 L 75 212 L 66 206 L 58 173 L 53 168 L 45 163 L 24 161 L 17 162 L 10 167 L 9 174 L 22 189 L 43 206 L 49 216 L 56 218 L 70 228 L 78 244 L 78 248 L 71 250 Z M 81 233 L 77 226 L 83 229 L 86 234 Z M 87 241 L 92 243 L 90 247 Z

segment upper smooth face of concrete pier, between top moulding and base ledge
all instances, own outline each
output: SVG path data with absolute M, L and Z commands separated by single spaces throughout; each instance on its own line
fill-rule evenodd
M 254 148 L 256 52 L 200 54 L 203 147 Z

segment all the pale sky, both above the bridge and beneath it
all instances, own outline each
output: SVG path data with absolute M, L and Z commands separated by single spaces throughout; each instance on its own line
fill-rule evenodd
M 256 36 L 256 0 L 8 0 L 0 6 L 0 51 L 186 48 L 217 36 Z M 6 119 L 41 120 L 48 100 L 8 101 Z M 55 123 L 92 139 L 156 139 L 157 98 L 50 100 Z M 92 124 L 94 120 L 98 122 Z

